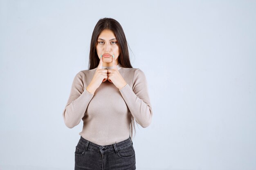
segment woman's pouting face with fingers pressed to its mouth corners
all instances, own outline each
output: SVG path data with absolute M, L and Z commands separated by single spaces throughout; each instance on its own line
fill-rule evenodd
M 104 29 L 100 33 L 98 42 L 96 44 L 96 50 L 99 59 L 101 58 L 101 55 L 103 57 L 103 66 L 112 66 L 112 60 L 114 60 L 116 65 L 118 64 L 117 58 L 120 50 L 113 31 Z M 115 58 L 112 57 L 113 54 Z

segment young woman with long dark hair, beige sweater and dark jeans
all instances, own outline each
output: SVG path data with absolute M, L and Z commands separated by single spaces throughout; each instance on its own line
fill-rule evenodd
M 126 37 L 116 20 L 97 22 L 89 67 L 74 77 L 63 111 L 68 128 L 83 120 L 75 170 L 135 170 L 135 120 L 146 128 L 152 109 L 145 74 L 132 68 Z

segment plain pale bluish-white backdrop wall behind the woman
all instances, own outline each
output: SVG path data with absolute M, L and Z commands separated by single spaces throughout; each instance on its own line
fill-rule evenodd
M 100 18 L 122 25 L 153 109 L 138 170 L 256 170 L 256 2 L 0 0 L 0 170 L 71 170 L 62 113 Z

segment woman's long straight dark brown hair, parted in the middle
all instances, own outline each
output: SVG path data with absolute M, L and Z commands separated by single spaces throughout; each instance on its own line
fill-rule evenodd
M 128 51 L 128 43 L 126 41 L 124 30 L 121 24 L 119 24 L 119 22 L 117 22 L 117 20 L 113 18 L 101 18 L 95 25 L 94 30 L 92 32 L 92 39 L 90 44 L 90 58 L 88 64 L 89 69 L 94 69 L 99 65 L 99 57 L 97 55 L 96 45 L 98 42 L 99 35 L 104 29 L 109 29 L 113 31 L 117 38 L 117 45 L 119 46 L 120 50 L 118 62 L 124 68 L 132 68 Z M 133 131 L 135 132 L 135 119 L 132 116 L 130 124 L 131 137 L 133 137 Z

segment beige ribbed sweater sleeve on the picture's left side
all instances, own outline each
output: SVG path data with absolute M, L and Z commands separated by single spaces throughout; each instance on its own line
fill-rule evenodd
M 74 77 L 70 97 L 63 111 L 63 119 L 68 128 L 78 125 L 84 117 L 85 111 L 94 94 L 86 90 L 86 76 L 80 71 Z

